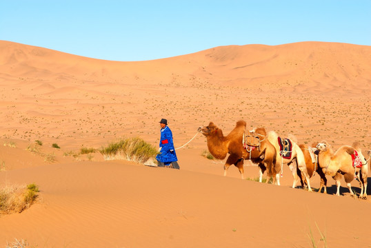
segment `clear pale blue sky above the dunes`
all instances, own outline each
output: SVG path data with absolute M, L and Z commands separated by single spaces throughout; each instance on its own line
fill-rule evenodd
M 0 40 L 114 61 L 219 45 L 371 45 L 371 1 L 1 0 Z

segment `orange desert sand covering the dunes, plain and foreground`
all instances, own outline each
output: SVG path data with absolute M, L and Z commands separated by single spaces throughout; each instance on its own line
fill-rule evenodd
M 197 128 L 236 121 L 298 143 L 371 149 L 371 47 L 303 42 L 230 45 L 153 61 L 90 59 L 0 41 L 0 185 L 39 185 L 37 203 L 0 216 L 0 247 L 371 247 L 368 200 L 328 177 L 328 194 L 242 180 L 201 156 Z M 104 161 L 140 137 L 158 146 L 167 118 L 180 170 Z M 35 141 L 43 145 L 34 152 Z M 52 144 L 61 147 L 56 149 Z M 75 154 L 76 156 L 72 156 Z M 370 174 L 370 172 L 369 172 Z M 245 161 L 245 178 L 256 165 Z M 368 180 L 370 183 L 371 180 Z M 311 178 L 319 187 L 319 176 Z M 360 192 L 359 183 L 352 189 Z M 321 234 L 325 237 L 321 240 Z

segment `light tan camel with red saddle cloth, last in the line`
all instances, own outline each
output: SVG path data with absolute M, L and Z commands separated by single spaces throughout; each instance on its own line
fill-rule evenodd
M 361 184 L 360 198 L 367 198 L 367 176 L 368 176 L 368 161 L 362 154 L 361 147 L 358 142 L 350 145 L 343 145 L 333 152 L 332 147 L 326 142 L 322 141 L 317 145 L 319 150 L 318 161 L 324 174 L 332 176 L 337 183 L 337 196 L 340 196 L 340 179 L 344 176 L 345 183 L 349 189 L 350 194 L 353 196 L 352 187 L 350 182 L 357 177 Z M 359 155 L 361 167 L 354 168 L 352 161 L 352 154 Z

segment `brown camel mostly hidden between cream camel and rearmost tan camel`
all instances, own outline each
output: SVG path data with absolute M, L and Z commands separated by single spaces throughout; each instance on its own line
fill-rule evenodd
M 299 144 L 299 147 L 301 149 L 301 152 L 303 152 L 304 154 L 305 165 L 307 166 L 307 172 L 308 172 L 309 178 L 312 178 L 312 176 L 314 176 L 314 174 L 317 172 L 317 174 L 319 174 L 319 176 L 321 177 L 321 183 L 319 185 L 318 192 L 321 193 L 322 188 L 323 188 L 323 193 L 327 194 L 327 189 L 326 189 L 327 178 L 325 174 L 322 172 L 321 167 L 319 167 L 318 165 L 317 148 L 314 148 L 316 147 L 317 144 L 318 143 L 312 143 L 312 146 Z M 305 180 L 305 176 L 301 173 L 299 169 L 297 169 L 297 174 L 301 178 L 301 186 L 308 187 L 307 180 Z

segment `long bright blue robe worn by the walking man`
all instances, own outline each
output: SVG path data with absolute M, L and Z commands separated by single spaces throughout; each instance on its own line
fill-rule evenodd
M 165 163 L 165 165 L 178 161 L 172 142 L 172 132 L 168 126 L 161 128 L 160 147 L 161 153 L 156 156 L 158 161 Z

